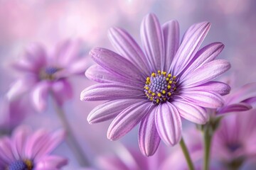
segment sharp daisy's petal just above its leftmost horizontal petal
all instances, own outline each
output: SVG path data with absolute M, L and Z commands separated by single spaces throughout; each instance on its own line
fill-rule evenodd
M 106 69 L 100 67 L 99 65 L 95 64 L 89 67 L 86 72 L 85 76 L 88 79 L 92 79 L 99 83 L 124 83 L 134 86 L 144 86 L 143 83 L 139 83 L 138 81 L 132 81 L 131 79 L 126 79 L 121 77 L 117 74 L 112 74 L 111 72 L 107 72 Z

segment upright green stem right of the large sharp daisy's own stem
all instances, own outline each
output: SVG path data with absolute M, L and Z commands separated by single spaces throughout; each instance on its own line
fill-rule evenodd
M 210 164 L 210 145 L 213 137 L 213 130 L 211 130 L 210 125 L 206 125 L 206 129 L 203 131 L 203 141 L 204 141 L 204 162 L 203 170 L 209 169 Z

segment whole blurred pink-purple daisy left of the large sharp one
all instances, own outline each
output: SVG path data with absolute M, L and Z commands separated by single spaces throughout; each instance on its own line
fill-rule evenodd
M 33 106 L 38 111 L 46 108 L 49 92 L 59 105 L 72 98 L 72 88 L 67 78 L 82 74 L 87 66 L 87 57 L 80 57 L 80 46 L 80 40 L 66 40 L 51 54 L 46 53 L 43 45 L 28 47 L 21 60 L 13 64 L 23 77 L 14 82 L 7 96 L 15 98 L 29 92 Z

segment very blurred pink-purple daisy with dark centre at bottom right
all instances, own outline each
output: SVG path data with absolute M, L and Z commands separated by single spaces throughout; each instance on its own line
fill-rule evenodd
M 256 157 L 256 109 L 229 115 L 213 138 L 213 158 L 229 169 L 238 169 Z

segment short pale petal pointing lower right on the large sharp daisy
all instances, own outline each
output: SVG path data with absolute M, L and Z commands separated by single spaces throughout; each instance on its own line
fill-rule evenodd
M 193 123 L 205 124 L 209 119 L 209 114 L 206 113 L 206 110 L 193 103 L 180 100 L 174 101 L 173 104 L 178 109 L 181 117 Z

